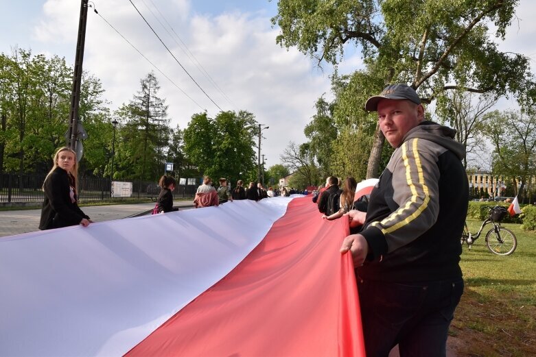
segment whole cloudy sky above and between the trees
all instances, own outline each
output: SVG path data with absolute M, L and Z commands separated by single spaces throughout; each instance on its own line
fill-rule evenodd
M 169 105 L 172 127 L 185 128 L 192 114 L 204 110 L 209 116 L 215 116 L 220 108 L 252 112 L 259 123 L 270 126 L 263 132 L 261 149 L 268 167 L 279 163 L 279 155 L 290 141 L 305 142 L 303 127 L 314 114 L 314 102 L 324 93 L 331 98 L 332 68 L 325 65 L 318 69 L 296 49 L 283 49 L 275 43 L 279 30 L 272 28 L 270 18 L 277 13 L 277 1 L 132 2 L 208 97 L 166 51 L 129 0 L 95 0 L 90 3 L 99 14 L 94 8 L 88 14 L 83 67 L 101 79 L 111 109 L 128 103 L 139 90 L 140 79 L 154 71 L 161 84 L 159 96 Z M 73 64 L 80 0 L 0 0 L 0 5 L 0 51 L 32 49 L 34 54 L 65 57 Z M 531 21 L 535 18 L 536 2 L 521 0 L 517 19 L 501 48 L 535 58 L 536 23 Z M 349 73 L 360 64 L 360 58 L 349 56 L 339 71 Z M 534 61 L 531 66 L 536 68 Z M 500 109 L 507 107 L 515 108 L 515 101 L 501 101 Z

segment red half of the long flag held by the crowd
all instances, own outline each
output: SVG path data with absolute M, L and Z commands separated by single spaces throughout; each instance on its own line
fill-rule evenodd
M 263 241 L 220 282 L 128 356 L 364 356 L 346 218 L 294 199 Z M 135 312 L 132 312 L 135 313 Z

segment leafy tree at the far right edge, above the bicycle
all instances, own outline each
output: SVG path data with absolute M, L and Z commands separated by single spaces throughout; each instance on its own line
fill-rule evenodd
M 493 145 L 492 173 L 510 177 L 520 192 L 536 170 L 536 115 L 526 112 L 498 112 L 487 114 L 485 135 Z

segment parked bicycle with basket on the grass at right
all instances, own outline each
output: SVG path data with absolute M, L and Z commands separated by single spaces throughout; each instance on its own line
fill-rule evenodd
M 500 225 L 500 221 L 502 221 L 506 213 L 506 208 L 501 206 L 489 208 L 489 218 L 482 222 L 482 225 L 480 225 L 480 229 L 476 234 L 469 232 L 467 222 L 465 222 L 461 237 L 461 245 L 463 246 L 463 243 L 465 242 L 467 243 L 469 250 L 471 250 L 471 245 L 478 239 L 482 230 L 484 230 L 484 227 L 491 223 L 493 228 L 486 234 L 486 245 L 489 251 L 493 254 L 498 254 L 499 256 L 508 256 L 509 254 L 512 254 L 517 247 L 517 238 L 515 238 L 515 234 L 513 234 L 511 230 Z

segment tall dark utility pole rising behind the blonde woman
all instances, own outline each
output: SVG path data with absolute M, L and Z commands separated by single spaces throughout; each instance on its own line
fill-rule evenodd
M 73 90 L 71 93 L 71 112 L 69 113 L 69 134 L 67 146 L 76 151 L 78 135 L 78 106 L 80 104 L 80 84 L 82 82 L 82 62 L 84 61 L 84 45 L 86 42 L 88 0 L 80 1 L 80 21 L 78 22 L 78 40 L 73 73 Z M 80 160 L 80 158 L 78 158 Z

